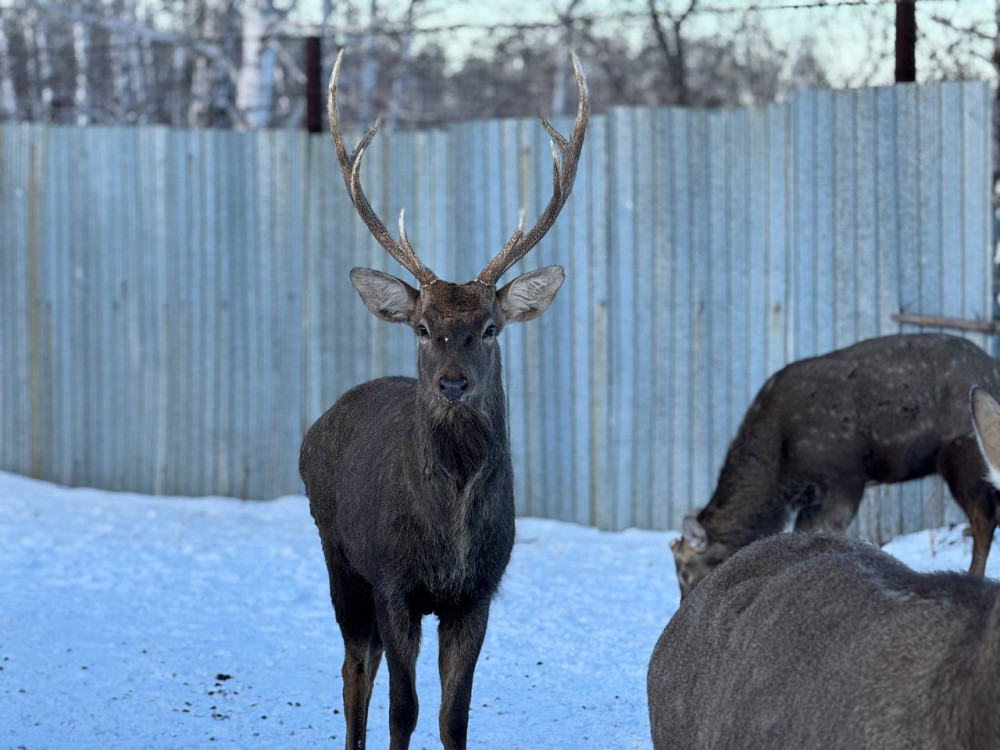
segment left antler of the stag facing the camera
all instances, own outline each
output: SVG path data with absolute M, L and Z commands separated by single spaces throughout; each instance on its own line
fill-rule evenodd
M 354 207 L 357 209 L 361 219 L 368 226 L 375 239 L 379 241 L 379 244 L 386 249 L 389 255 L 399 261 L 399 264 L 403 268 L 412 273 L 421 286 L 426 286 L 433 283 L 437 279 L 437 276 L 434 275 L 431 269 L 420 262 L 420 258 L 417 257 L 417 254 L 410 246 L 410 240 L 407 238 L 406 230 L 403 228 L 404 212 L 402 210 L 399 212 L 400 241 L 397 242 L 389 234 L 389 230 L 385 228 L 382 220 L 372 210 L 371 204 L 368 203 L 368 198 L 365 197 L 365 193 L 361 189 L 361 160 L 364 158 L 365 149 L 368 148 L 372 142 L 372 138 L 375 137 L 381 120 L 375 121 L 372 129 L 358 142 L 354 153 L 348 156 L 347 149 L 344 148 L 344 137 L 340 132 L 340 116 L 337 114 L 337 78 L 340 75 L 340 61 L 343 57 L 344 51 L 341 50 L 340 54 L 337 55 L 337 62 L 333 66 L 333 73 L 330 75 L 330 88 L 326 96 L 326 109 L 327 116 L 330 118 L 330 135 L 333 136 L 333 147 L 337 152 L 337 161 L 340 162 L 340 172 L 344 175 L 344 184 L 347 186 L 347 193 L 351 196 L 351 201 L 354 203 Z

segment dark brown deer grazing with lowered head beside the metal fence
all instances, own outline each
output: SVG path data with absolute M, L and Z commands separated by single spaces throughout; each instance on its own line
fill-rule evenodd
M 754 398 L 708 504 L 670 543 L 683 599 L 740 548 L 777 534 L 844 533 L 866 485 L 939 474 L 983 575 L 1000 494 L 969 425 L 973 384 L 1000 393 L 997 363 L 966 339 L 896 334 L 793 362 Z

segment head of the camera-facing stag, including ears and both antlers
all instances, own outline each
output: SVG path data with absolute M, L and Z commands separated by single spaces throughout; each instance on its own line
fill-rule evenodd
M 569 140 L 545 120 L 542 126 L 552 138 L 552 198 L 538 222 L 524 231 L 524 214 L 500 252 L 472 281 L 454 284 L 434 275 L 414 252 L 399 213 L 399 240 L 375 215 L 361 189 L 361 161 L 375 137 L 379 123 L 361 139 L 354 152 L 344 148 L 337 114 L 337 78 L 343 52 L 330 77 L 327 111 L 330 133 L 340 171 L 354 207 L 386 252 L 416 278 L 418 286 L 370 268 L 355 268 L 351 282 L 365 306 L 376 317 L 410 326 L 419 343 L 417 355 L 418 393 L 437 409 L 474 406 L 493 382 L 499 382 L 500 359 L 496 337 L 508 323 L 521 323 L 541 315 L 563 282 L 563 269 L 548 266 L 519 276 L 497 289 L 500 277 L 538 244 L 566 203 L 583 148 L 590 115 L 587 84 L 580 63 L 573 55 L 579 106 Z

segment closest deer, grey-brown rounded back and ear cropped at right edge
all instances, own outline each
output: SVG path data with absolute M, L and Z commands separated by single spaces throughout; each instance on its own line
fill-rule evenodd
M 1000 404 L 974 388 L 971 411 L 971 478 L 1000 488 Z M 646 691 L 656 750 L 995 750 L 1000 582 L 827 532 L 766 537 L 684 599 Z

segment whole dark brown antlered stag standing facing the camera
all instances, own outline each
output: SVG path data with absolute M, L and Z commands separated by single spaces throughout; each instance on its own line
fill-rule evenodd
M 354 268 L 351 283 L 381 320 L 409 326 L 417 376 L 383 377 L 344 393 L 309 428 L 299 456 L 312 517 L 344 640 L 346 747 L 365 747 L 372 683 L 382 655 L 389 670 L 391 750 L 416 727 L 416 660 L 421 622 L 438 617 L 440 738 L 466 746 L 473 673 L 490 603 L 514 544 L 513 468 L 499 335 L 537 318 L 562 285 L 560 266 L 503 274 L 552 227 L 569 198 L 590 104 L 576 55 L 578 105 L 569 139 L 544 118 L 551 137 L 552 197 L 530 230 L 517 229 L 472 280 L 438 278 L 414 252 L 399 214 L 396 240 L 361 188 L 361 163 L 379 127 L 351 154 L 337 112 L 338 55 L 327 94 L 330 133 L 354 207 L 372 235 L 419 286 Z

